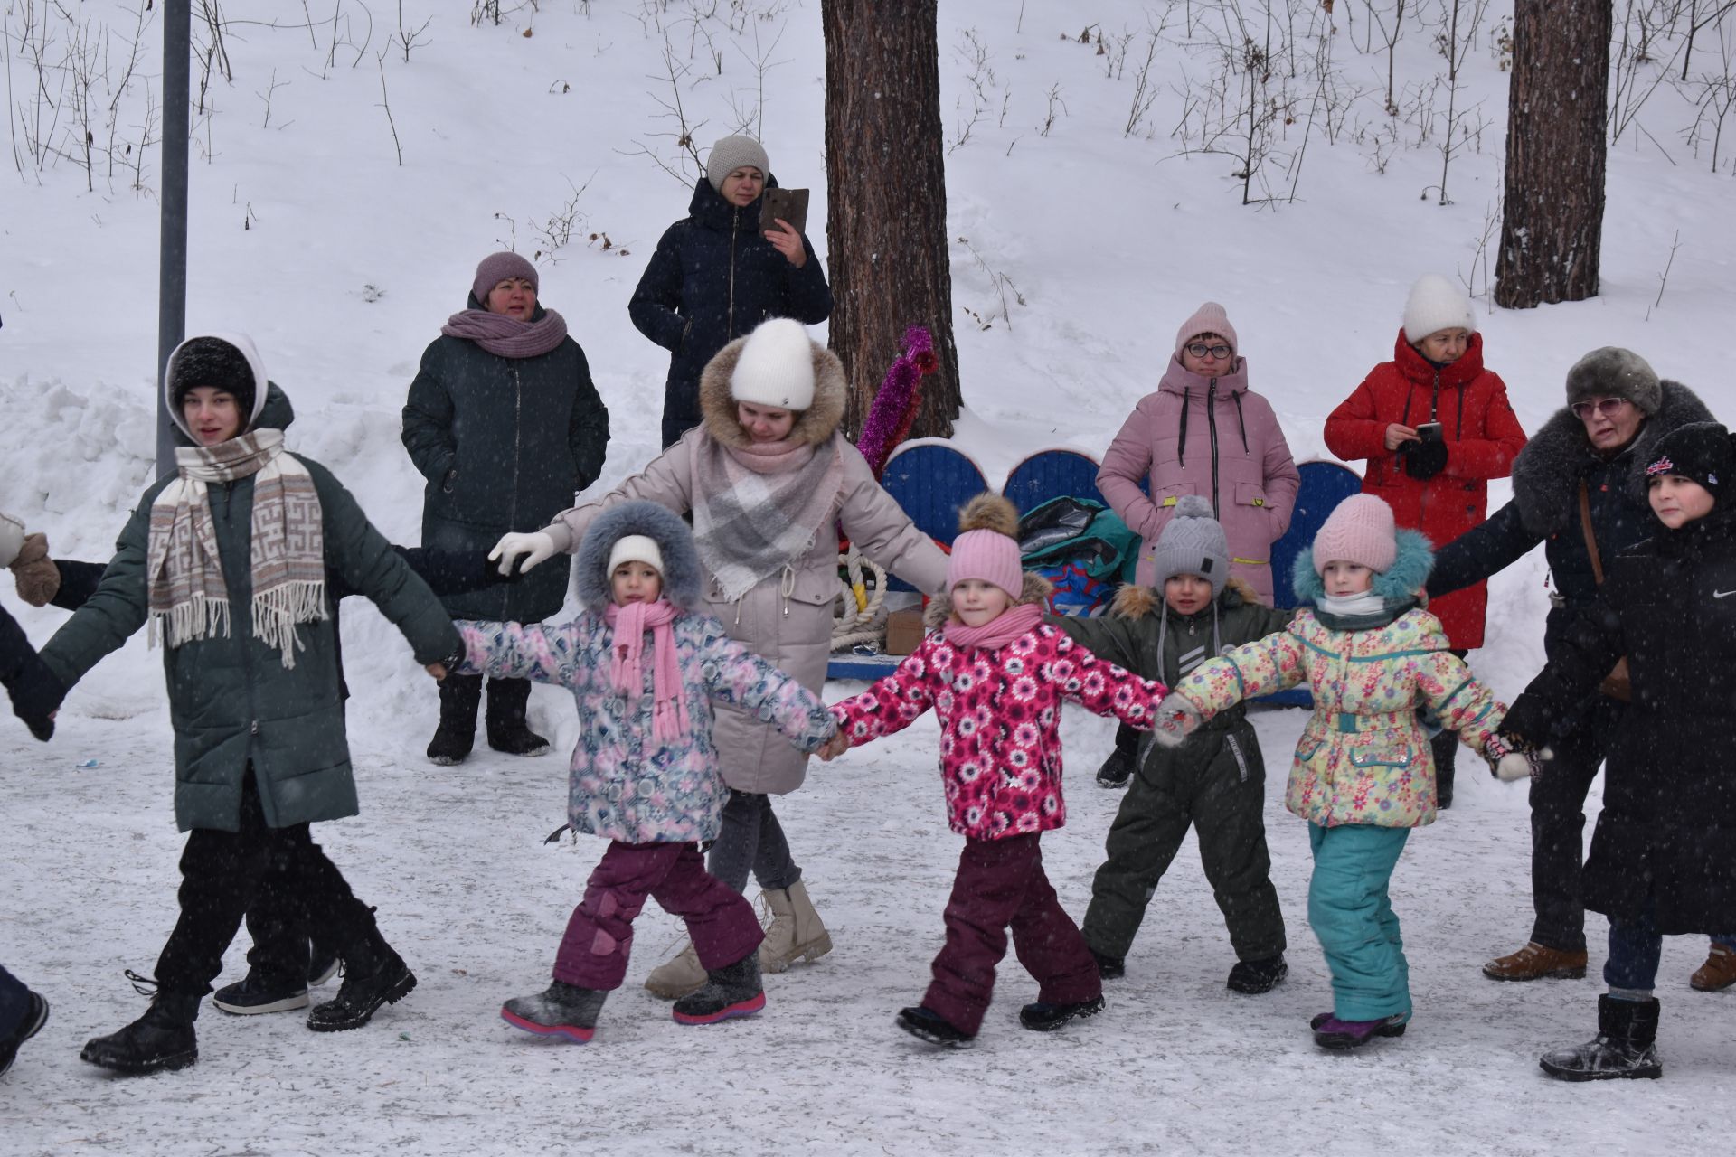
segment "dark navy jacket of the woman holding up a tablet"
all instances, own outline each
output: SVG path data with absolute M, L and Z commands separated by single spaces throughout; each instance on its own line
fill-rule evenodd
M 766 187 L 778 180 L 766 177 Z M 687 217 L 670 226 L 639 278 L 627 312 L 639 333 L 670 352 L 663 422 L 700 425 L 700 371 L 717 350 L 767 317 L 806 326 L 832 314 L 826 271 L 802 238 L 797 269 L 760 234 L 760 205 L 734 206 L 705 177 L 693 186 Z

